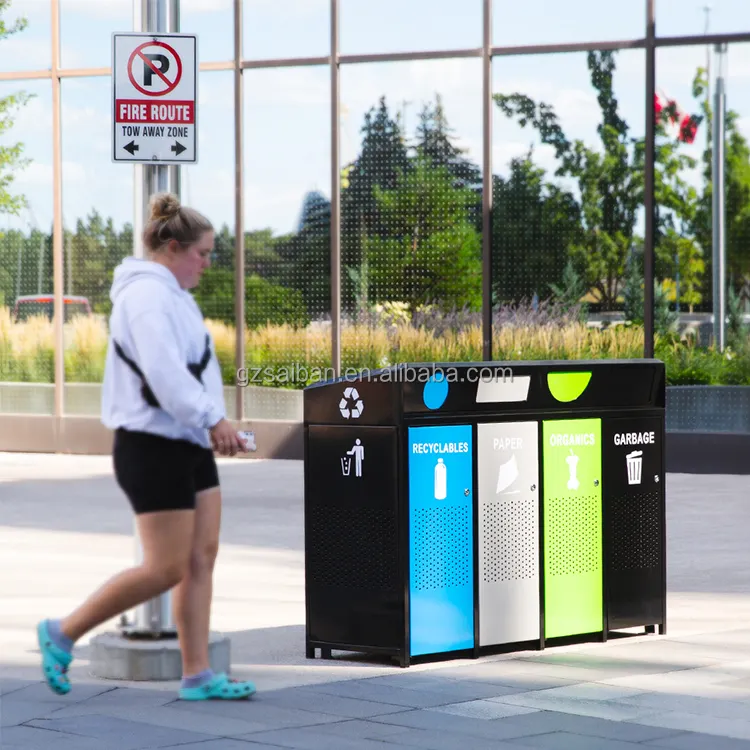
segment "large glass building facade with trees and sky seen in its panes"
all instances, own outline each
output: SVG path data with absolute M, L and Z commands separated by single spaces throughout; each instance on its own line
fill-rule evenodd
M 140 250 L 112 34 L 144 7 L 3 11 L 0 425 L 98 417 L 112 272 Z M 231 417 L 300 421 L 304 385 L 406 361 L 656 356 L 670 386 L 750 384 L 745 0 L 181 0 L 179 31 Z

